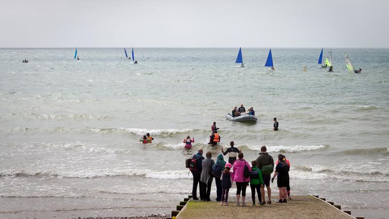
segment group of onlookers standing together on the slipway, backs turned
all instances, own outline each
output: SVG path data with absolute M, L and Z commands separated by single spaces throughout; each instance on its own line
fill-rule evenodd
M 286 203 L 286 199 L 291 199 L 290 162 L 283 154 L 279 154 L 276 163 L 274 163 L 273 157 L 267 153 L 266 146 L 262 146 L 258 158 L 251 161 L 250 165 L 244 159 L 242 151 L 234 147 L 233 141 L 230 142 L 230 147 L 226 151 L 223 148 L 221 151 L 222 153 L 216 157 L 216 162 L 212 159 L 210 151 L 206 153 L 204 158 L 201 148 L 192 158 L 187 160 L 186 165 L 193 175 L 193 200 L 211 201 L 211 187 L 213 178 L 215 178 L 216 201 L 220 201 L 220 205 L 228 205 L 229 190 L 233 182 L 236 184 L 236 206 L 246 206 L 248 185 L 251 189 L 252 205 L 256 205 L 255 194 L 258 196 L 260 205 L 271 204 L 270 182 L 273 183 L 276 177 L 279 190 L 277 203 Z M 228 163 L 224 161 L 223 156 L 227 154 L 229 155 Z M 273 176 L 271 176 L 272 173 Z M 197 187 L 199 187 L 199 198 L 197 197 Z M 267 201 L 265 201 L 265 188 Z M 241 199 L 242 202 L 240 202 Z

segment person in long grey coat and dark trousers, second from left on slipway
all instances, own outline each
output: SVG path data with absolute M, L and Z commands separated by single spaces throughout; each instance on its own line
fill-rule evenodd
M 200 183 L 203 184 L 202 191 L 200 190 L 200 194 L 202 193 L 204 200 L 203 201 L 211 201 L 210 195 L 211 195 L 211 186 L 212 186 L 212 166 L 215 164 L 215 162 L 212 160 L 212 153 L 207 152 L 206 158 L 203 161 L 202 170 L 201 170 L 201 177 L 200 177 Z M 201 188 L 200 188 L 201 189 Z M 200 195 L 201 196 L 201 195 Z

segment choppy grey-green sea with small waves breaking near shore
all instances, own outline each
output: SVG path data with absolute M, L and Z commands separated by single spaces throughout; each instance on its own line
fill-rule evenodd
M 1 49 L 0 218 L 169 213 L 191 193 L 185 159 L 230 141 L 247 161 L 263 145 L 286 155 L 292 196 L 389 209 L 389 49 L 333 49 L 334 73 L 318 68 L 319 48 L 272 49 L 276 71 L 268 49 L 242 48 L 246 68 L 237 52 L 136 48 L 134 65 L 122 48 L 78 48 L 80 61 L 74 49 Z M 241 103 L 258 123 L 225 119 Z M 146 132 L 155 140 L 142 145 Z

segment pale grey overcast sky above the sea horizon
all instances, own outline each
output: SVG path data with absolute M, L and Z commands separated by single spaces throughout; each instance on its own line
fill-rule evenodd
M 0 47 L 389 47 L 389 0 L 0 0 Z

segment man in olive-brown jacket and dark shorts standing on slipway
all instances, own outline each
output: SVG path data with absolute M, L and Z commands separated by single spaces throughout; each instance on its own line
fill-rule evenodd
M 261 170 L 262 179 L 267 190 L 268 201 L 266 203 L 271 204 L 271 189 L 270 189 L 270 174 L 274 169 L 274 160 L 267 152 L 266 146 L 261 147 L 261 152 L 259 153 L 258 158 L 256 159 L 258 163 L 258 168 Z M 262 203 L 265 203 L 265 187 L 261 187 Z

